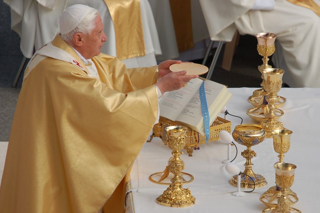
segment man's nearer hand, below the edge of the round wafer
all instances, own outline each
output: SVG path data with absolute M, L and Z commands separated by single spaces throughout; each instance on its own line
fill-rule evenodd
M 191 79 L 199 77 L 198 75 L 186 75 L 186 73 L 187 71 L 185 70 L 180 72 L 170 72 L 164 75 L 156 85 L 161 93 L 164 94 L 164 92 L 179 90 Z

